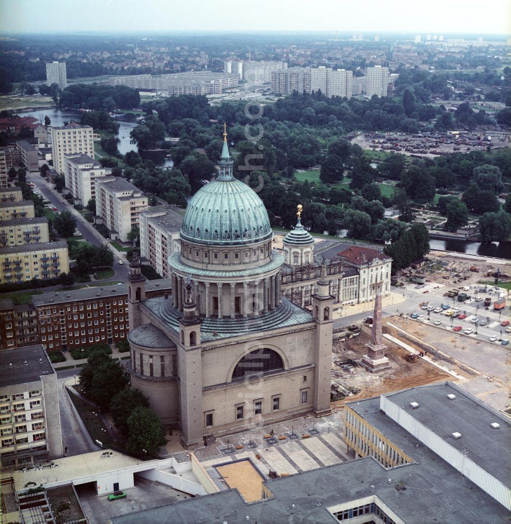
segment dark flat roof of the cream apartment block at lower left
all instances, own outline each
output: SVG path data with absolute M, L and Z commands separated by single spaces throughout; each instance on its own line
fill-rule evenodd
M 40 344 L 0 351 L 0 387 L 35 382 L 41 375 L 53 373 L 48 355 Z

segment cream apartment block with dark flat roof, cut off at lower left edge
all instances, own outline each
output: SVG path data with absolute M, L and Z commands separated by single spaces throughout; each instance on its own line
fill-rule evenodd
M 40 345 L 0 352 L 2 467 L 62 456 L 57 375 Z

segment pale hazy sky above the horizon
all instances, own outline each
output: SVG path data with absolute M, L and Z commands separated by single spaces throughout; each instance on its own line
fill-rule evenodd
M 0 32 L 401 31 L 511 34 L 511 0 L 0 0 Z

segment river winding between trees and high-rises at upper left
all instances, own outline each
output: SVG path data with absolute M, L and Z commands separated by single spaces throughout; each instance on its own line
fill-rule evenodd
M 33 116 L 40 121 L 44 121 L 45 116 L 48 116 L 51 120 L 52 126 L 62 126 L 64 122 L 80 122 L 81 113 L 73 110 L 60 110 L 60 109 L 40 109 L 37 111 L 18 112 L 20 116 Z M 130 132 L 137 125 L 136 122 L 127 122 L 125 120 L 116 119 L 119 127 L 117 148 L 121 154 L 125 155 L 128 151 L 136 151 L 136 147 L 130 144 Z M 139 153 L 140 154 L 140 153 Z M 160 167 L 172 167 L 173 162 L 170 158 L 165 156 L 165 152 L 152 151 L 141 155 L 143 158 L 152 160 L 157 166 Z

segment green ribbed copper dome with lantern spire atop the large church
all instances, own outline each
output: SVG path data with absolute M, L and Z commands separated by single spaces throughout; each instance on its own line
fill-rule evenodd
M 209 245 L 245 245 L 270 239 L 273 232 L 261 199 L 232 176 L 227 141 L 216 180 L 200 188 L 188 203 L 180 237 Z

